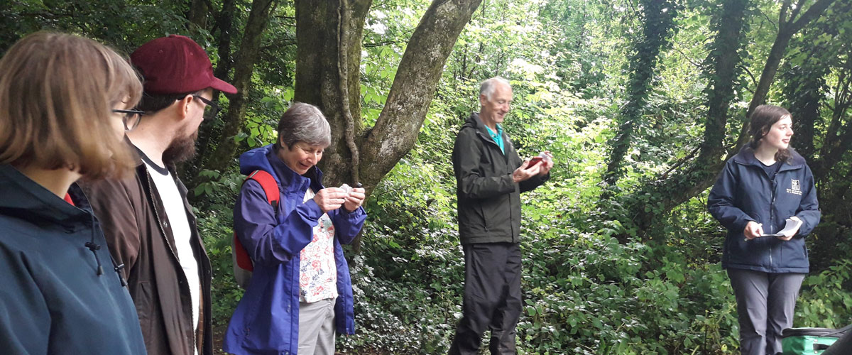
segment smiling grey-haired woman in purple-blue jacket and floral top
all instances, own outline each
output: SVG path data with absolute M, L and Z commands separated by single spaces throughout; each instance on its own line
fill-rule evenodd
M 331 129 L 315 106 L 291 106 L 278 131 L 276 144 L 239 157 L 243 174 L 273 176 L 280 202 L 271 205 L 256 180 L 239 192 L 234 232 L 254 272 L 228 324 L 224 350 L 333 355 L 335 332 L 354 334 L 352 283 L 340 244 L 364 225 L 364 189 L 322 186 L 315 165 L 331 144 Z

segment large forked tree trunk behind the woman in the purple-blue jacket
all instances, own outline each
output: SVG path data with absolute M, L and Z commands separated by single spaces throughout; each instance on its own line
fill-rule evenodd
M 480 1 L 436 0 L 429 6 L 369 130 L 360 117 L 359 65 L 371 1 L 296 1 L 295 100 L 319 106 L 331 124 L 332 143 L 320 161 L 326 186 L 358 179 L 369 194 L 412 149 L 446 59 Z M 353 152 L 359 159 L 353 159 Z

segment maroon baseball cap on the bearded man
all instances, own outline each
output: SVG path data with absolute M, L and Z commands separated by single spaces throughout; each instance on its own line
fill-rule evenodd
M 236 94 L 237 88 L 213 76 L 204 49 L 186 36 L 159 37 L 130 54 L 130 62 L 144 77 L 145 92 L 183 94 L 213 88 Z

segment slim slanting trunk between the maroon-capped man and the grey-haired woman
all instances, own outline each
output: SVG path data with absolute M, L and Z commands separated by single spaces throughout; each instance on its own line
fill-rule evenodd
M 233 137 L 239 133 L 245 120 L 245 104 L 251 89 L 251 74 L 260 54 L 261 38 L 273 8 L 273 0 L 254 0 L 251 2 L 249 19 L 245 24 L 243 40 L 239 43 L 239 52 L 233 63 L 234 72 L 232 84 L 237 88 L 237 94 L 229 94 L 227 111 L 222 117 L 225 127 L 221 139 L 210 160 L 204 163 L 204 169 L 223 171 L 233 163 L 233 155 L 237 144 Z

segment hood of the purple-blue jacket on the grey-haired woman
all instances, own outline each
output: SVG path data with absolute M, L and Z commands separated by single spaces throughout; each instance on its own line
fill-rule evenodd
M 300 181 L 303 183 L 321 183 L 322 181 L 322 172 L 316 166 L 308 169 L 308 172 L 304 176 L 296 174 L 293 169 L 290 169 L 286 163 L 282 162 L 275 155 L 273 144 L 252 149 L 239 156 L 240 174 L 250 175 L 255 170 L 273 173 L 272 176 L 278 182 L 278 185 L 285 186 L 290 190 L 304 190 L 304 188 L 307 188 L 307 186 L 302 187 L 302 183 L 293 184 L 291 183 L 292 181 L 300 181 L 302 179 L 305 179 L 304 181 Z

